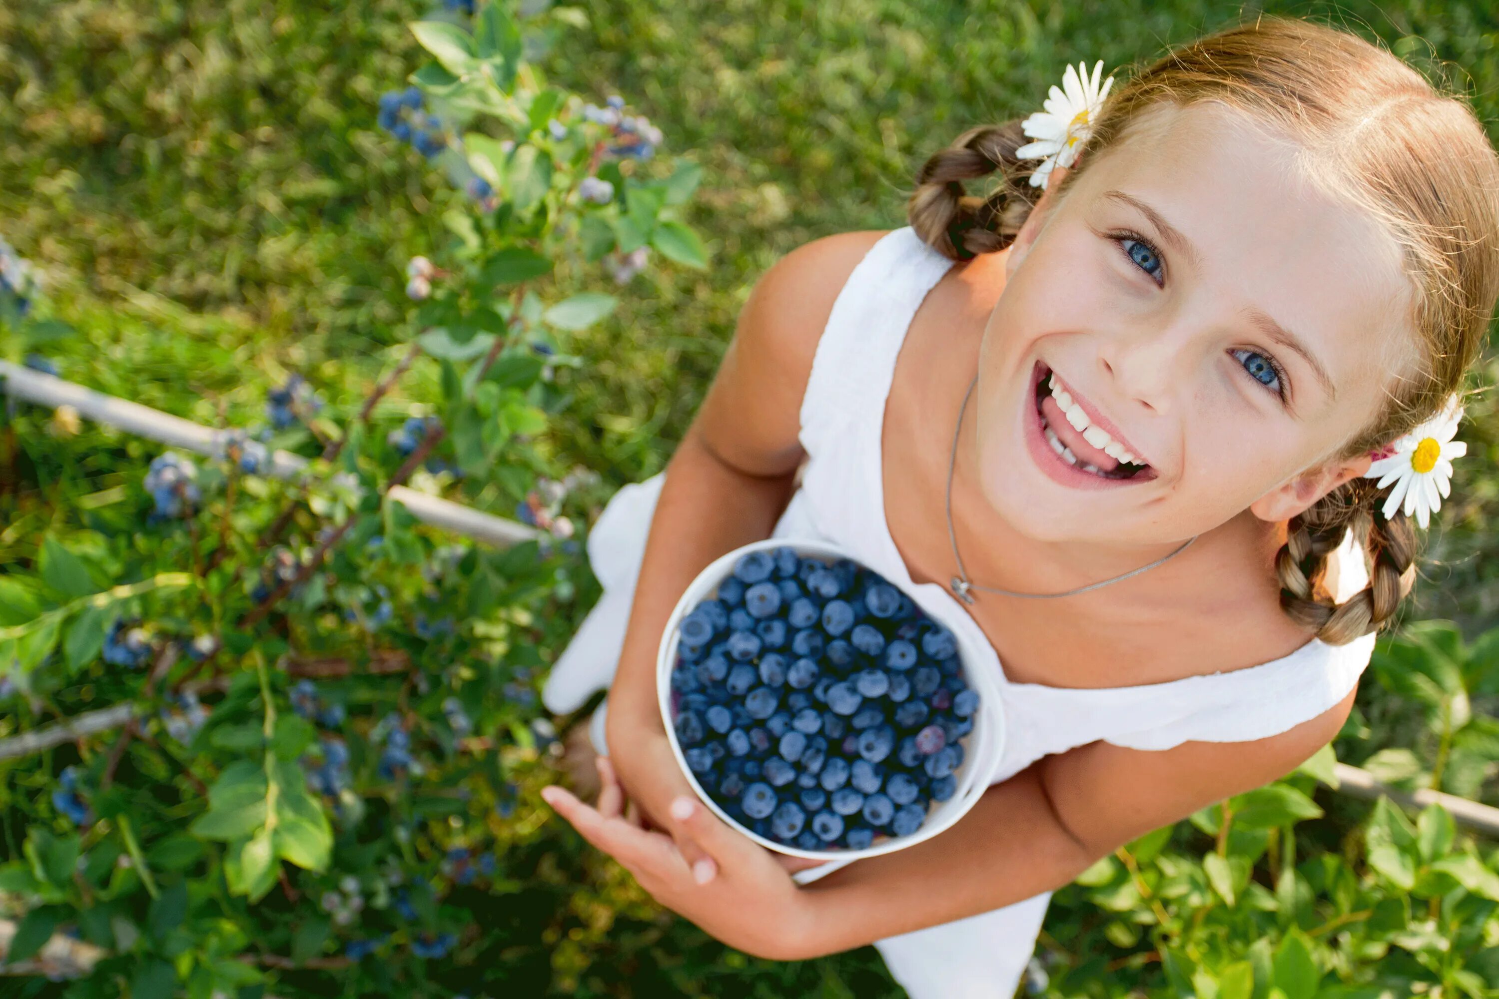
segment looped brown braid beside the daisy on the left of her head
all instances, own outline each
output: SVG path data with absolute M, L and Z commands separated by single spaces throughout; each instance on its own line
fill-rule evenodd
M 905 210 L 916 234 L 955 261 L 994 253 L 1013 243 L 1036 204 L 1028 186 L 1016 183 L 1033 172 L 1015 156 L 1027 142 L 1021 118 L 1015 118 L 968 129 L 928 159 L 916 175 L 916 190 Z M 998 190 L 988 198 L 967 193 L 962 181 L 994 171 L 1001 177 Z

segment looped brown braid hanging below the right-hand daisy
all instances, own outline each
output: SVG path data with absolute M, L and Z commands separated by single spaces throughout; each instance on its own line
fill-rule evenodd
M 1376 515 L 1381 499 L 1384 491 L 1367 479 L 1345 482 L 1291 520 L 1276 554 L 1280 607 L 1298 625 L 1316 628 L 1328 644 L 1343 646 L 1384 626 L 1415 581 L 1415 529 L 1403 512 L 1390 520 Z M 1373 559 L 1369 586 L 1337 604 L 1322 580 L 1327 556 L 1360 523 Z

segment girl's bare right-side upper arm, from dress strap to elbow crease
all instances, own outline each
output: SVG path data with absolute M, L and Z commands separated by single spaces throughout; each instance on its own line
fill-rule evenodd
M 1268 738 L 1186 741 L 1141 750 L 1105 741 L 1042 758 L 1042 786 L 1063 828 L 1103 857 L 1199 809 L 1277 780 L 1333 741 L 1358 696 Z

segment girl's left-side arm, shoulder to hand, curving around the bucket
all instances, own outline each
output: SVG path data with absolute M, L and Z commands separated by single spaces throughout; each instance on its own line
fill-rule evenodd
M 803 457 L 800 407 L 817 341 L 838 291 L 880 235 L 815 240 L 760 277 L 714 383 L 667 464 L 606 719 L 621 783 L 663 828 L 670 798 L 690 794 L 690 785 L 655 741 L 666 738 L 655 683 L 661 632 L 709 562 L 767 538 L 785 509 Z

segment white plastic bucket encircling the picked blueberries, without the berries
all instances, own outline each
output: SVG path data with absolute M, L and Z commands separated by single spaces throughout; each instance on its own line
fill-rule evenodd
M 979 798 L 983 797 L 983 792 L 989 789 L 989 780 L 1004 755 L 1004 713 L 1000 710 L 998 680 L 985 674 L 985 671 L 974 668 L 973 664 L 982 662 L 982 658 L 976 655 L 974 650 L 968 649 L 968 643 L 965 643 L 958 629 L 949 631 L 952 631 L 953 638 L 958 640 L 958 658 L 962 662 L 964 678 L 968 681 L 970 687 L 979 692 L 979 710 L 973 716 L 973 731 L 958 740 L 964 747 L 962 765 L 953 771 L 953 776 L 958 777 L 958 791 L 946 801 L 935 803 L 934 807 L 928 810 L 926 821 L 922 827 L 910 836 L 887 836 L 886 839 L 871 843 L 863 849 L 799 849 L 796 846 L 787 846 L 785 843 L 778 843 L 772 839 L 766 839 L 764 836 L 758 836 L 730 816 L 723 807 L 718 806 L 717 801 L 714 801 L 712 795 L 708 794 L 703 785 L 697 782 L 697 774 L 694 774 L 693 768 L 687 765 L 687 756 L 682 755 L 682 746 L 676 740 L 676 725 L 672 714 L 672 669 L 676 665 L 676 646 L 679 641 L 678 625 L 693 611 L 694 607 L 697 607 L 699 602 L 718 593 L 718 584 L 733 574 L 735 563 L 739 562 L 739 559 L 751 551 L 769 551 L 781 547 L 791 548 L 797 556 L 817 557 L 826 562 L 848 559 L 850 562 L 863 566 L 859 559 L 854 559 L 848 553 L 842 551 L 836 545 L 827 544 L 826 541 L 766 538 L 764 541 L 755 541 L 720 556 L 709 563 L 706 569 L 697 574 L 697 578 L 688 584 L 682 598 L 676 602 L 676 607 L 672 608 L 672 616 L 666 622 L 666 631 L 661 634 L 661 649 L 657 655 L 657 701 L 661 707 L 661 722 L 666 726 L 667 738 L 672 741 L 672 753 L 676 756 L 678 765 L 682 768 L 682 773 L 687 774 L 688 782 L 693 785 L 693 791 L 697 792 L 697 797 L 702 798 L 703 804 L 714 810 L 714 815 L 766 849 L 773 849 L 778 854 L 805 857 L 808 860 L 859 860 L 863 857 L 890 854 L 937 836 L 961 819 L 968 809 L 977 804 Z M 890 580 L 886 581 L 890 586 L 896 586 Z

